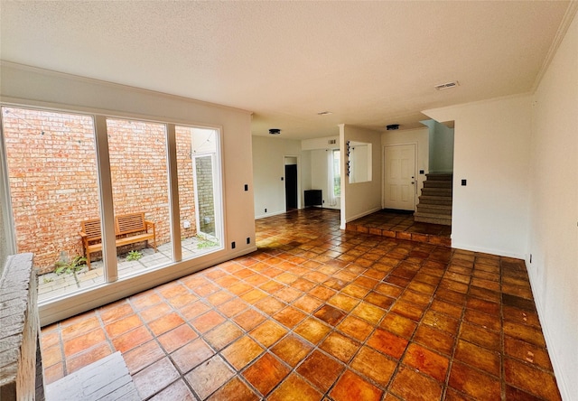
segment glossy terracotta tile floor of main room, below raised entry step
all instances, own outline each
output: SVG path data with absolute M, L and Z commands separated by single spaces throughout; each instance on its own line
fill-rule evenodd
M 255 253 L 42 329 L 48 382 L 120 350 L 144 399 L 560 399 L 524 262 L 256 221 Z

